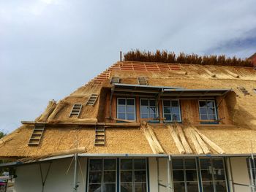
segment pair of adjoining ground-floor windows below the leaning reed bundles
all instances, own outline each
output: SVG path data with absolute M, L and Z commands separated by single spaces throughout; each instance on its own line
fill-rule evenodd
M 175 192 L 227 191 L 223 158 L 173 158 L 172 168 Z

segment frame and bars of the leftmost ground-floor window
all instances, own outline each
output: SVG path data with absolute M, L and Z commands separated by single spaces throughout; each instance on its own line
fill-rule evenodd
M 118 175 L 118 169 L 117 169 L 117 158 L 89 158 L 88 160 L 88 174 L 87 174 L 87 191 L 89 191 L 89 179 L 90 179 L 90 161 L 91 160 L 96 160 L 96 159 L 100 159 L 100 160 L 102 160 L 102 170 L 101 170 L 101 172 L 102 172 L 102 178 L 101 178 L 101 183 L 100 183 L 100 185 L 101 185 L 101 191 L 103 191 L 103 184 L 104 184 L 104 160 L 105 159 L 115 159 L 116 160 L 116 191 L 117 191 L 117 188 L 118 188 L 118 183 L 117 183 L 117 175 Z M 113 170 L 107 170 L 107 171 L 112 171 L 113 172 Z

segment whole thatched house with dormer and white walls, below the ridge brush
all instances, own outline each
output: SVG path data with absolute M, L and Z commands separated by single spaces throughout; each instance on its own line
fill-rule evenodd
M 255 191 L 256 70 L 120 61 L 0 140 L 15 191 Z

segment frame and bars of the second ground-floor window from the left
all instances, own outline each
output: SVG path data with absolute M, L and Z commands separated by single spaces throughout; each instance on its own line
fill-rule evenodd
M 132 159 L 132 169 L 129 171 L 132 171 L 132 192 L 135 191 L 135 170 L 136 171 L 142 171 L 144 169 L 134 169 L 134 160 L 136 158 L 119 158 L 119 191 L 121 191 L 121 159 Z M 145 159 L 146 161 L 146 191 L 148 191 L 148 161 L 147 158 L 137 158 L 137 159 Z M 127 171 L 127 170 L 126 170 Z M 138 182 L 138 183 L 142 183 L 142 182 Z

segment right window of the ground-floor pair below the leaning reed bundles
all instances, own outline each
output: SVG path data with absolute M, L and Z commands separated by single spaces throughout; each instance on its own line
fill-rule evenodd
M 222 158 L 200 158 L 200 174 L 203 191 L 227 191 Z

